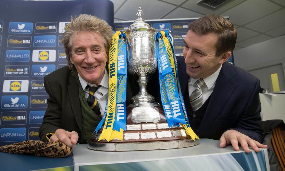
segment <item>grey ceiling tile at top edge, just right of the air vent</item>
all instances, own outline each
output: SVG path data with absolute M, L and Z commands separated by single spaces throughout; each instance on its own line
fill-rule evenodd
M 250 0 L 244 1 L 228 11 L 221 13 L 221 15 L 229 16 L 232 23 L 244 25 L 281 8 L 267 0 Z

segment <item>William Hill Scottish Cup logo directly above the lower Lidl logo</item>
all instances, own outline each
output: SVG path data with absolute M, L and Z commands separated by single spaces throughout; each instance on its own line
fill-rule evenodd
M 5 77 L 28 77 L 30 65 L 6 65 Z

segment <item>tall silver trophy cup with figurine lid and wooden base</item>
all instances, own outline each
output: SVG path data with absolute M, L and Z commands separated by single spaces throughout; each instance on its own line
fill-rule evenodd
M 124 33 L 129 54 L 128 71 L 139 76 L 137 82 L 140 91 L 132 97 L 133 103 L 127 107 L 123 141 L 98 141 L 101 129 L 88 141 L 88 148 L 98 151 L 138 151 L 195 146 L 199 140 L 192 140 L 182 126 L 169 127 L 163 108 L 159 103 L 154 103 L 154 97 L 146 91 L 147 76 L 157 69 L 156 29 L 142 19 L 141 7 L 136 15 L 137 20 Z

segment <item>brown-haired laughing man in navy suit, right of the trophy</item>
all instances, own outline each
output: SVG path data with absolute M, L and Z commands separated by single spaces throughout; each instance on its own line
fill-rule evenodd
M 233 24 L 207 15 L 189 24 L 178 73 L 191 128 L 199 138 L 220 140 L 220 147 L 238 144 L 246 152 L 266 148 L 263 140 L 259 79 L 227 60 L 235 48 Z

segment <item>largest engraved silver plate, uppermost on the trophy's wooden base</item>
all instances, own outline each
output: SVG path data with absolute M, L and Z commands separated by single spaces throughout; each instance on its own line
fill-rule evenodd
M 132 122 L 138 123 L 158 123 L 160 121 L 159 111 L 152 106 L 138 106 L 132 109 Z

